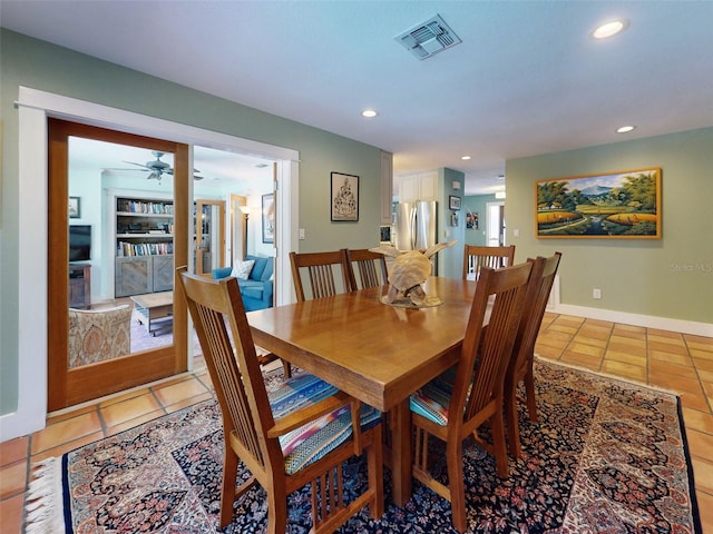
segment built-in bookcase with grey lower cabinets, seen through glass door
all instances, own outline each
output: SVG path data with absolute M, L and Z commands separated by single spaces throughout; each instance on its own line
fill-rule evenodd
M 115 208 L 115 296 L 173 289 L 173 201 L 116 196 Z

